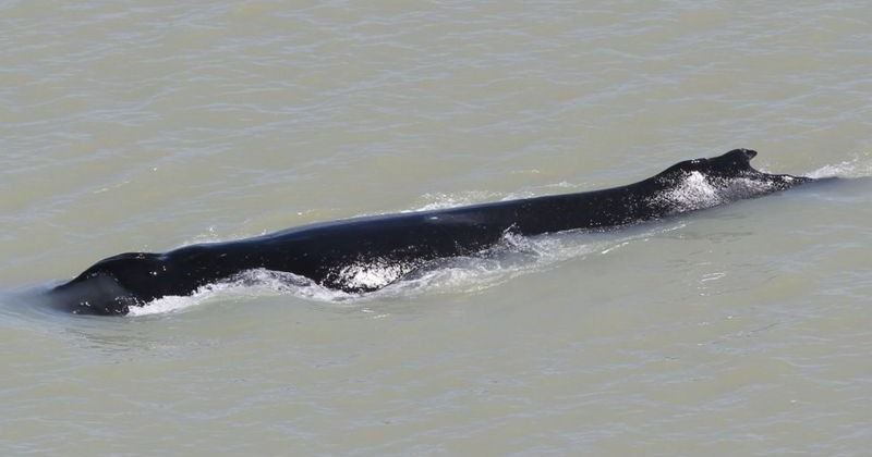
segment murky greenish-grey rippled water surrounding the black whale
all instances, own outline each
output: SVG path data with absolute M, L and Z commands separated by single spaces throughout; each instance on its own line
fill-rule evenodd
M 870 23 L 851 1 L 0 1 L 0 454 L 864 454 Z M 852 180 L 519 239 L 365 299 L 266 272 L 121 319 L 28 299 L 122 251 L 736 147 Z

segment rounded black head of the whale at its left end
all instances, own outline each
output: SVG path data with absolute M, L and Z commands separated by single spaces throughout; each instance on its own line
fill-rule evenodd
M 128 252 L 95 263 L 72 281 L 50 291 L 53 305 L 77 314 L 126 314 L 165 294 L 164 256 Z

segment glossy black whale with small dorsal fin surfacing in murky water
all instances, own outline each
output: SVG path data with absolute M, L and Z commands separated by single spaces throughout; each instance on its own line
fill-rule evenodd
M 125 252 L 98 261 L 48 294 L 64 311 L 123 316 L 131 307 L 192 295 L 259 269 L 365 294 L 440 259 L 485 252 L 507 234 L 607 231 L 815 181 L 758 171 L 751 166 L 756 155 L 734 149 L 686 160 L 643 181 L 600 190 L 316 223 L 166 252 Z M 391 274 L 383 282 L 360 281 L 367 269 Z

